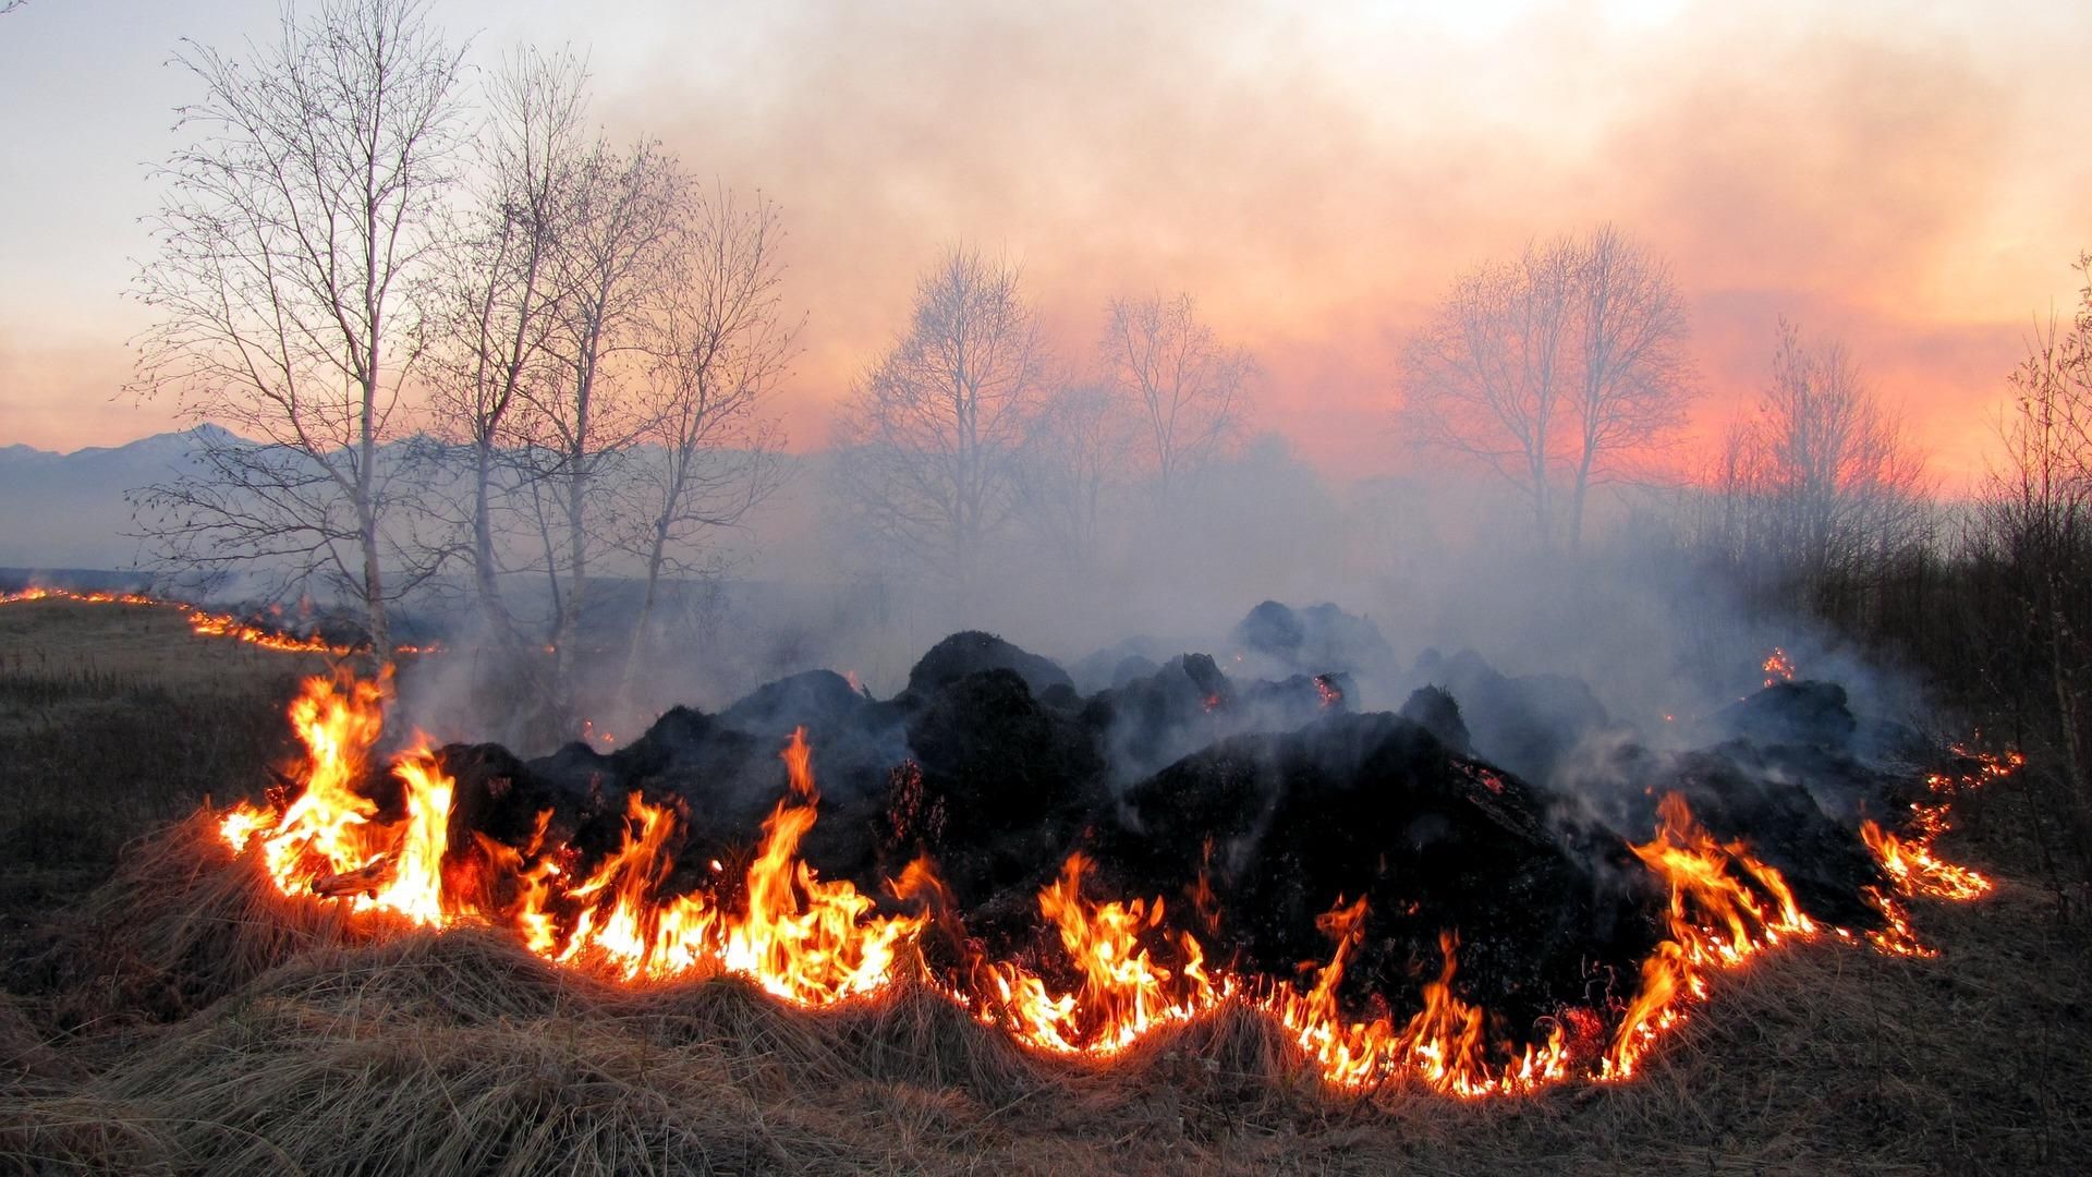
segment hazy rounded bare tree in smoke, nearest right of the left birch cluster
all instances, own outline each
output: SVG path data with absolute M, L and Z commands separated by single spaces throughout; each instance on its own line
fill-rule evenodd
M 908 333 L 856 381 L 837 425 L 837 492 L 874 536 L 971 599 L 1008 526 L 1048 381 L 1017 270 L 954 247 L 918 285 Z

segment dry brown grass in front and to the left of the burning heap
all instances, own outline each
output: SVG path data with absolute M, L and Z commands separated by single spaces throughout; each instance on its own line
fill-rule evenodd
M 1998 894 L 1916 907 L 1939 959 L 1776 953 L 1625 1085 L 1333 1095 L 1241 1012 L 1069 1066 L 927 993 L 803 1014 L 490 936 L 368 942 L 201 823 L 119 857 L 264 783 L 310 668 L 169 622 L 0 609 L 0 1169 L 2052 1173 L 2092 1148 L 2092 924 L 2015 852 L 2040 815 L 2013 785 L 1946 844 Z

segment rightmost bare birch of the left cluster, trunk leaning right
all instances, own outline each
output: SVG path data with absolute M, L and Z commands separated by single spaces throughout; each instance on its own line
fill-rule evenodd
M 626 549 L 644 563 L 644 593 L 626 649 L 630 691 L 663 572 L 711 572 L 690 549 L 738 526 L 780 484 L 780 444 L 764 408 L 795 350 L 778 283 L 782 228 L 764 197 L 743 205 L 720 188 L 695 203 L 663 274 L 651 329 L 651 377 L 623 486 Z

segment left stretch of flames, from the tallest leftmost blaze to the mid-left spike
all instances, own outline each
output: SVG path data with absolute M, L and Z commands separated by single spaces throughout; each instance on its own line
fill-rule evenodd
M 291 704 L 305 746 L 303 790 L 274 810 L 241 804 L 220 821 L 234 850 L 259 846 L 285 894 L 345 898 L 354 911 L 425 928 L 506 926 L 546 959 L 619 980 L 736 972 L 803 1005 L 885 984 L 923 928 L 920 915 L 879 915 L 870 896 L 820 880 L 799 859 L 820 800 L 803 731 L 784 748 L 791 790 L 764 823 L 743 909 L 718 907 L 709 892 L 661 894 L 682 813 L 640 794 L 628 800 L 619 848 L 586 878 L 571 873 L 567 848 L 544 844 L 550 813 L 538 815 L 523 850 L 479 838 L 469 865 L 446 869 L 456 783 L 433 752 L 416 748 L 391 762 L 404 785 L 400 819 L 381 821 L 377 802 L 358 792 L 389 693 L 389 676 L 308 681 Z

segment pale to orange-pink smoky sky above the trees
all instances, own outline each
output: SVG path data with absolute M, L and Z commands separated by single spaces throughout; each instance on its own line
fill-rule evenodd
M 782 212 L 820 448 L 950 243 L 1023 270 L 1061 354 L 1107 299 L 1186 291 L 1261 375 L 1251 423 L 1337 478 L 1416 461 L 1395 356 L 1466 268 L 1613 222 L 1665 258 L 1703 400 L 1774 325 L 1843 339 L 1941 490 L 1996 450 L 2004 375 L 2092 247 L 2088 4 L 918 4 L 435 0 L 492 65 L 588 54 L 594 113 Z M 146 327 L 169 59 L 274 36 L 274 0 L 29 0 L 0 17 L 0 444 L 176 425 L 123 392 Z

